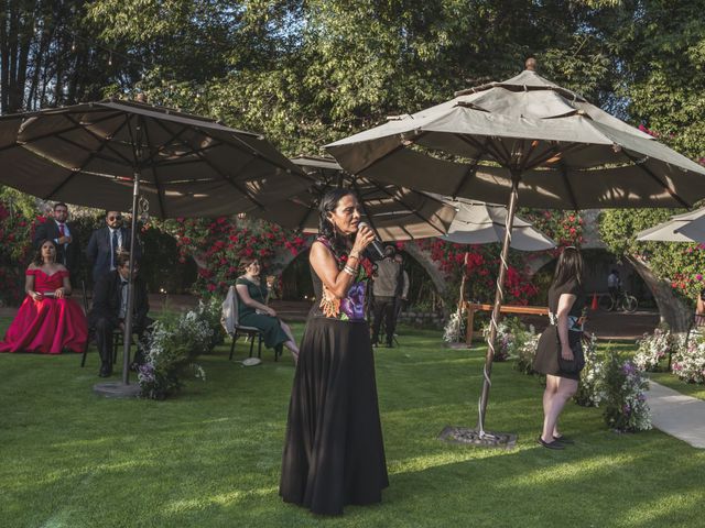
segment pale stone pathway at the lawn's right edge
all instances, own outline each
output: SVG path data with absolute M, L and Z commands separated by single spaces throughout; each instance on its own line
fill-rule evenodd
M 694 448 L 705 449 L 705 402 L 655 382 L 649 382 L 649 386 L 647 403 L 653 427 Z

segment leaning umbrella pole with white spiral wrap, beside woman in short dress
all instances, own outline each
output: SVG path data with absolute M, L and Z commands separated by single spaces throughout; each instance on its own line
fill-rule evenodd
M 487 354 L 485 356 L 485 367 L 482 370 L 482 393 L 478 405 L 478 422 L 477 429 L 480 438 L 485 432 L 485 415 L 487 414 L 487 402 L 489 400 L 489 389 L 492 385 L 490 376 L 492 373 L 492 361 L 495 360 L 495 341 L 497 340 L 497 326 L 499 321 L 502 300 L 505 299 L 505 277 L 507 276 L 507 267 L 509 257 L 509 245 L 511 244 L 511 230 L 514 224 L 514 213 L 517 211 L 517 198 L 519 195 L 519 175 L 512 173 L 511 195 L 509 196 L 509 206 L 507 207 L 507 222 L 505 226 L 505 241 L 499 264 L 499 275 L 497 277 L 497 289 L 495 293 L 495 306 L 492 307 L 492 316 L 489 322 L 489 336 L 487 337 Z

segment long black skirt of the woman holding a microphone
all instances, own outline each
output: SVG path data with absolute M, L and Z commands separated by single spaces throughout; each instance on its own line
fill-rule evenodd
M 279 493 L 315 514 L 379 503 L 389 485 L 366 322 L 310 317 L 289 406 Z

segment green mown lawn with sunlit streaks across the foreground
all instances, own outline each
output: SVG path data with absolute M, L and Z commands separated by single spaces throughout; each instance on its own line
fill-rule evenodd
M 3 320 L 7 327 L 9 320 Z M 300 333 L 301 324 L 294 324 Z M 568 405 L 562 452 L 535 443 L 536 377 L 497 363 L 487 427 L 510 451 L 436 440 L 474 426 L 484 349 L 443 348 L 401 329 L 376 352 L 390 487 L 380 505 L 321 518 L 278 496 L 293 366 L 203 358 L 205 383 L 165 402 L 91 393 L 97 354 L 0 354 L 0 508 L 8 527 L 699 527 L 705 452 L 659 431 L 615 435 L 599 409 Z M 246 354 L 245 344 L 237 349 Z

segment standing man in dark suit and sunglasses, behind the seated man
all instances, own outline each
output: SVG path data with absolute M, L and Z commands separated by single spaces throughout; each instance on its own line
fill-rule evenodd
M 102 275 L 115 271 L 120 252 L 130 251 L 130 230 L 122 226 L 122 215 L 106 211 L 106 226 L 90 235 L 86 254 L 93 265 L 93 282 L 96 284 Z M 142 256 L 139 240 L 134 241 L 134 257 Z

